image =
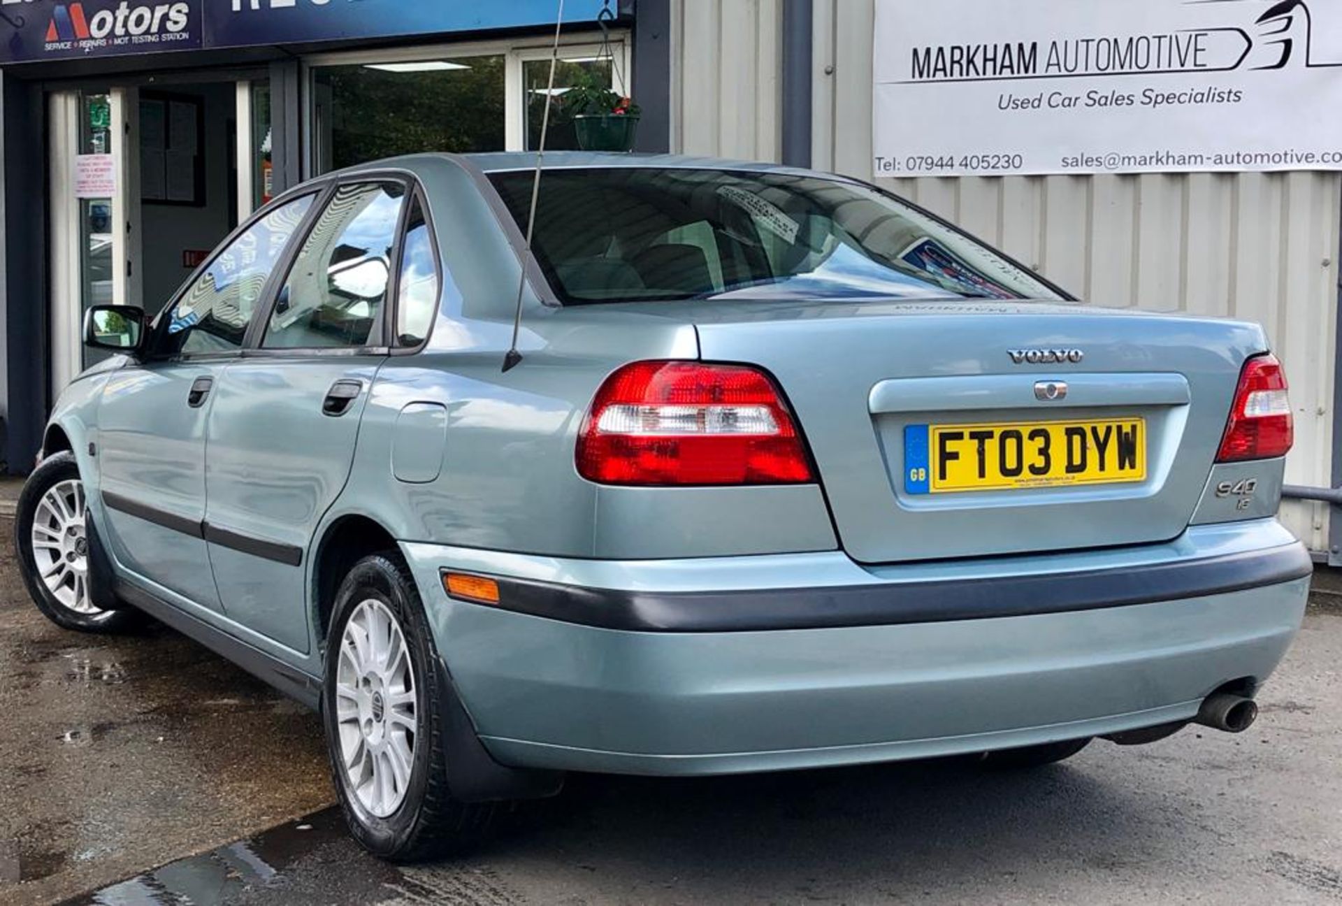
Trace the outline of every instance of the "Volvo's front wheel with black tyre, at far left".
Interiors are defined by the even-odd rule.
[[[64,630],[123,632],[140,623],[134,609],[93,603],[89,506],[79,464],[70,451],[42,460],[28,476],[15,513],[19,572],[38,609]]]

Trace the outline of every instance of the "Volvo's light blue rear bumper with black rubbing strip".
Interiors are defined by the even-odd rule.
[[[1275,668],[1299,628],[1310,569],[1303,549],[1272,521],[1190,529],[1143,549],[888,570],[863,569],[841,554],[616,564],[403,548],[439,650],[495,758],[647,774],[917,758],[1188,719],[1217,686],[1261,682]],[[1184,585],[1166,585],[1180,593],[1131,600],[1122,576],[1166,577],[1180,562],[1188,574],[1219,562],[1236,578],[1206,573],[1206,584],[1194,587],[1185,576]],[[1043,600],[1036,612],[1016,605],[1001,616],[966,609],[957,619],[887,613],[880,621],[868,613],[858,625],[647,631],[455,601],[442,591],[442,568],[518,578],[527,588],[568,584],[574,599],[609,593],[576,613],[596,600],[688,596],[696,607],[731,607],[754,600],[746,595],[778,593],[784,612],[801,600],[851,615],[844,600],[856,593],[840,589],[855,587],[863,595],[852,600],[863,607],[883,596],[895,601],[890,612],[902,613],[898,601],[909,589],[939,585],[954,597],[956,580],[977,589],[966,600],[980,608]],[[1067,605],[1068,580],[1080,589],[1102,574],[1115,589],[1110,603],[1078,592]],[[812,580],[809,596],[800,576]],[[1040,585],[1045,578],[1051,584]],[[1012,593],[994,595],[994,587]],[[503,584],[505,604],[511,588]],[[1021,588],[1031,595],[1013,592]]]

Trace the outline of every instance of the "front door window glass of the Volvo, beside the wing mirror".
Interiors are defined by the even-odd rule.
[[[243,345],[266,281],[313,205],[311,195],[275,208],[235,239],[164,321],[166,354],[231,352]]]

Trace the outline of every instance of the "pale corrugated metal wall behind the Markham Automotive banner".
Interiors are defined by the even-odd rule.
[[[676,4],[672,141],[684,153],[777,160],[780,5]],[[815,0],[813,165],[868,180],[874,15],[872,0]],[[879,181],[1090,303],[1263,323],[1296,408],[1287,481],[1331,485],[1342,174]],[[1326,506],[1288,502],[1282,515],[1326,549]]]

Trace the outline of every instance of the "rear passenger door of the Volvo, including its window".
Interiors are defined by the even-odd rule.
[[[224,611],[309,650],[306,557],[349,478],[368,391],[386,360],[386,299],[407,187],[340,185],[271,309],[215,388],[205,541]]]

